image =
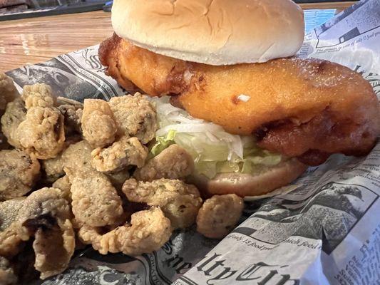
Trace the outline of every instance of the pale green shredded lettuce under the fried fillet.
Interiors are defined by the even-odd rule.
[[[209,178],[220,172],[254,173],[277,165],[282,156],[262,150],[252,136],[231,135],[220,125],[192,118],[171,105],[168,98],[152,98],[158,115],[158,131],[151,155],[176,143],[194,158],[195,171]]]

